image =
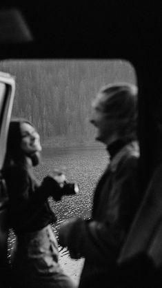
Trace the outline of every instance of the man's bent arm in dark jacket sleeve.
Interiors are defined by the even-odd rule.
[[[73,258],[97,258],[106,263],[117,259],[138,203],[138,192],[134,185],[137,181],[136,167],[136,159],[128,159],[115,178],[113,189],[119,198],[114,209],[114,217],[117,217],[114,223],[111,223],[110,216],[105,216],[103,221],[72,219],[63,224],[59,232],[59,243],[68,246]]]

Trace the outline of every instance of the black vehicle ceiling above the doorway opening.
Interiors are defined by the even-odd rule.
[[[107,0],[90,4],[82,0],[41,2],[38,5],[14,1],[13,5],[8,1],[0,8],[3,15],[6,12],[3,25],[1,21],[1,48],[6,48],[6,54],[14,57],[129,59],[134,58],[134,54],[135,57],[143,56],[145,50],[152,52],[154,45],[159,44],[156,35],[161,30],[160,2],[148,1],[145,5],[141,1]],[[11,19],[9,11],[15,12],[15,9],[23,19],[21,28],[26,25],[30,37],[24,41],[24,35],[20,39],[15,36],[14,43],[14,24],[10,25],[8,33],[5,27]],[[5,42],[6,34],[8,39]],[[4,51],[1,53],[5,56]]]

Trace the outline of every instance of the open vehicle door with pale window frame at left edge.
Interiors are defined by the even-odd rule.
[[[8,127],[14,100],[15,81],[10,74],[0,72],[0,287],[8,287],[8,261],[7,240],[8,228],[6,225],[6,212],[8,207],[8,194],[5,182],[1,176],[1,168],[6,154],[6,141]]]

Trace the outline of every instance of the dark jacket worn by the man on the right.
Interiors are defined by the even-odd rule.
[[[74,220],[70,226],[70,255],[85,258],[80,287],[98,287],[95,279],[105,273],[109,281],[114,273],[121,245],[139,205],[138,163],[138,143],[133,141],[122,147],[97,185],[92,218]]]

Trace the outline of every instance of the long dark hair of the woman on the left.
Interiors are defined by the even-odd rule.
[[[12,119],[10,121],[6,156],[3,167],[23,163],[24,154],[21,150],[21,123],[28,123],[33,127],[33,125],[26,119]]]

